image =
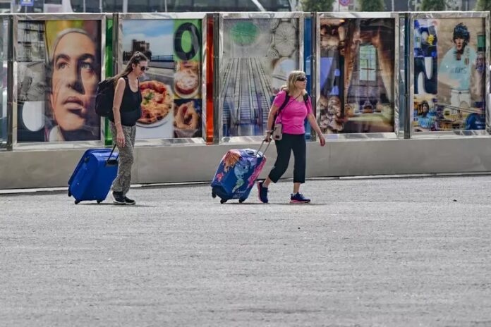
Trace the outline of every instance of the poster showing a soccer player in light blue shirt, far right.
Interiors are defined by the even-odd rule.
[[[485,21],[414,20],[415,132],[485,129]]]

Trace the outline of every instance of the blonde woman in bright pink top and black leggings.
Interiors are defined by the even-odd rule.
[[[274,98],[271,109],[269,109],[267,118],[269,130],[267,131],[266,142],[271,141],[274,124],[281,123],[283,125],[283,135],[281,140],[274,141],[278,155],[271,172],[266,180],[257,182],[259,199],[263,203],[268,202],[269,184],[271,182],[277,183],[288,168],[291,152],[295,158],[295,166],[293,168],[293,193],[290,197],[290,203],[310,202],[310,199],[300,193],[300,185],[305,183],[305,118],[317,132],[321,147],[324,147],[326,141],[313,115],[312,103],[305,91],[306,85],[305,73],[301,70],[293,70],[289,75],[288,85],[281,87],[281,91]]]

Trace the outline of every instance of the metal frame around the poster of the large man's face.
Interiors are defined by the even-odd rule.
[[[101,25],[101,44],[100,44],[100,63],[101,80],[105,78],[104,53],[106,44],[106,14],[105,13],[29,13],[13,15],[12,28],[12,47],[13,47],[13,85],[9,96],[12,97],[12,147],[13,149],[78,149],[94,146],[103,146],[104,140],[101,138],[96,141],[75,141],[75,142],[17,142],[17,120],[18,120],[18,23],[19,21],[46,21],[46,20],[100,20]],[[104,128],[104,121],[101,118],[101,128]]]

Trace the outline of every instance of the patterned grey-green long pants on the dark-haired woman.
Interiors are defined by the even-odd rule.
[[[110,123],[113,142],[116,142],[116,126]],[[131,166],[133,166],[133,148],[135,147],[136,126],[121,126],[124,134],[124,147],[119,147],[118,175],[113,182],[113,192],[123,192],[123,196],[130,190]]]

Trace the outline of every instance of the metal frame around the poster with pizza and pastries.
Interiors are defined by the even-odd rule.
[[[172,139],[145,139],[136,140],[135,146],[155,146],[155,145],[183,145],[183,144],[206,144],[206,39],[207,39],[207,13],[119,13],[114,14],[117,34],[114,37],[117,47],[114,47],[116,70],[115,74],[123,67],[123,21],[124,20],[175,20],[175,19],[200,19],[201,20],[201,106],[202,106],[202,137],[179,137]],[[117,51],[115,51],[117,49]]]

